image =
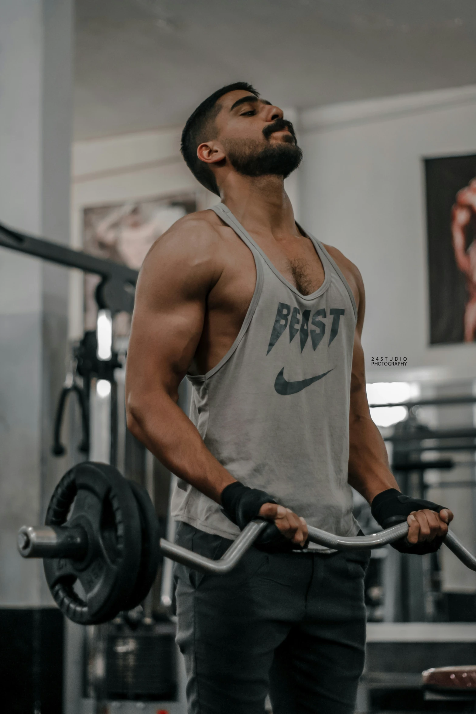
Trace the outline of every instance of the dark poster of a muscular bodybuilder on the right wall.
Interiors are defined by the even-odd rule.
[[[430,344],[476,340],[476,154],[425,159]]]

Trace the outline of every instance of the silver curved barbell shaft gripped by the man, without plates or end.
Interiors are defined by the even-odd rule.
[[[267,521],[258,519],[250,521],[248,526],[243,528],[238,538],[233,540],[230,548],[228,548],[226,553],[224,553],[219,560],[211,560],[211,558],[206,558],[204,555],[193,553],[191,550],[182,548],[181,545],[170,543],[170,541],[164,540],[163,538],[161,538],[161,550],[167,558],[176,560],[177,563],[188,565],[188,568],[202,570],[205,573],[215,573],[216,575],[229,573],[230,570],[233,570],[246,550],[250,548],[250,545],[253,545],[267,523]],[[368,548],[382,548],[383,545],[404,538],[408,533],[408,523],[398,523],[397,526],[387,528],[385,531],[380,531],[380,533],[358,535],[353,538],[343,535],[333,535],[333,533],[321,531],[320,528],[314,528],[313,526],[308,526],[308,533],[311,543],[325,545],[326,548],[333,550],[365,550]],[[447,532],[443,542],[467,568],[476,570],[475,556],[458,540],[452,531]]]

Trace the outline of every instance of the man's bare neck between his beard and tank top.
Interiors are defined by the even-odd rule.
[[[221,201],[250,233],[299,235],[282,176],[228,175]]]

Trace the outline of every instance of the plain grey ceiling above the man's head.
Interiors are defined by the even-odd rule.
[[[476,84],[476,3],[76,0],[75,139],[183,124],[238,80],[299,109]]]

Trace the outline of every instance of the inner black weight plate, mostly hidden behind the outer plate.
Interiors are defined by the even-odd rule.
[[[139,516],[141,517],[142,550],[136,584],[124,610],[136,608],[146,598],[153,581],[156,579],[158,562],[161,558],[156,509],[145,488],[133,481],[128,481],[128,484],[131,486],[131,491],[136,498]]]

